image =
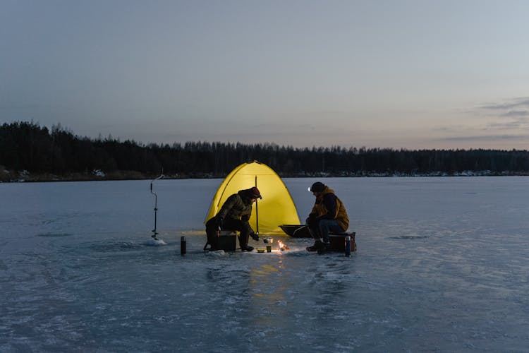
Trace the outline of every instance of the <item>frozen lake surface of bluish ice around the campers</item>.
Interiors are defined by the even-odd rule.
[[[0,184],[0,352],[528,352],[529,178],[320,181],[351,258],[204,253],[220,179],[154,182],[165,246],[150,181]]]

